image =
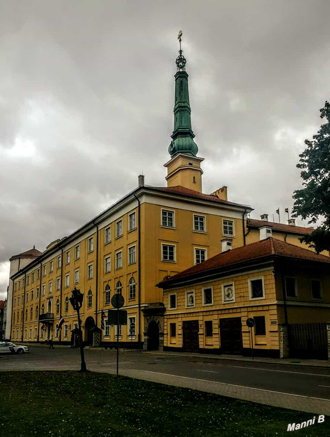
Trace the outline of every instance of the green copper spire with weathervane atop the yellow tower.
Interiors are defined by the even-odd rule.
[[[194,139],[195,135],[192,130],[192,122],[190,113],[192,112],[189,104],[189,89],[188,75],[186,73],[186,59],[182,54],[180,30],[178,40],[180,42],[179,56],[176,59],[177,72],[176,78],[176,93],[174,105],[174,130],[171,135],[172,141],[169,145],[168,152],[171,157],[178,153],[185,155],[196,156],[198,147]]]

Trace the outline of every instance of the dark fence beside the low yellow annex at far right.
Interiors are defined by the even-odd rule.
[[[289,323],[289,357],[327,359],[326,323]]]

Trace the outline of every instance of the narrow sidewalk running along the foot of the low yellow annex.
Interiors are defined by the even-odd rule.
[[[161,351],[143,351],[144,354],[163,355],[173,357],[188,357],[188,358],[207,358],[207,359],[227,359],[235,361],[249,361],[249,362],[266,362],[271,364],[286,364],[291,366],[310,366],[310,367],[324,367],[330,369],[330,361],[318,359],[301,359],[301,358],[260,358],[243,357],[241,355],[215,355],[215,354],[199,354],[190,352],[161,352]]]

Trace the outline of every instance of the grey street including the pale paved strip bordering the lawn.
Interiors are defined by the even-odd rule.
[[[84,352],[89,370],[115,373],[115,351]],[[0,371],[47,369],[79,370],[80,351],[32,346],[29,354],[0,355]],[[330,412],[330,369],[326,368],[128,351],[119,355],[119,373],[286,408]]]

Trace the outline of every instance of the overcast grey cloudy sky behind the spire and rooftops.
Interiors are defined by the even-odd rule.
[[[0,299],[12,254],[70,234],[142,171],[166,185],[180,29],[203,191],[287,219],[330,98],[328,0],[0,7]]]

